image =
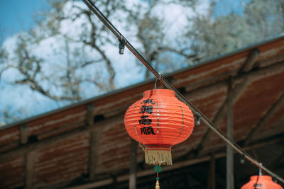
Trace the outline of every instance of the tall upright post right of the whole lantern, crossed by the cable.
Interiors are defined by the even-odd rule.
[[[228,82],[228,108],[227,108],[227,130],[230,139],[234,137],[232,79]],[[234,189],[234,150],[229,144],[226,145],[226,189]]]

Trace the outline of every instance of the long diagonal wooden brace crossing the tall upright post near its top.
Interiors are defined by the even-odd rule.
[[[246,62],[244,63],[244,71],[248,71],[248,69],[251,69],[253,67],[253,64],[256,62],[258,54],[256,53],[255,50],[253,50],[249,56],[246,59]],[[249,85],[251,78],[249,74],[244,74],[243,76],[243,81],[240,84],[236,84],[236,86],[234,87],[233,91],[232,91],[232,103],[234,105],[234,103],[236,103],[237,100],[239,100],[241,94],[246,90],[246,86]],[[217,112],[217,114],[214,117],[214,124],[218,125],[220,124],[220,122],[222,122],[224,115],[226,113],[227,110],[227,103],[228,103],[228,98],[226,98],[226,100],[224,101],[224,103],[222,104],[221,108],[219,108],[219,111]],[[209,128],[207,128],[204,136],[202,137],[202,139],[200,140],[200,144],[198,144],[198,147],[196,149],[197,154],[196,156],[200,156],[201,151],[204,149],[205,144],[209,141],[209,139],[212,137],[212,130],[210,130]]]

